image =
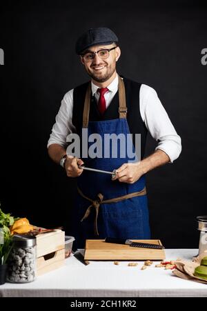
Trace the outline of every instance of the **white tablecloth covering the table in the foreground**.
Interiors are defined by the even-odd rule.
[[[166,250],[166,259],[191,260],[198,250]],[[207,285],[179,279],[171,270],[143,262],[129,267],[128,261],[90,261],[83,265],[75,257],[62,268],[43,274],[31,283],[0,285],[0,297],[207,297]]]

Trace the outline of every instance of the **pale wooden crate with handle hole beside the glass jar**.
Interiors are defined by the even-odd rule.
[[[55,270],[65,260],[65,232],[55,230],[37,235],[37,276]]]

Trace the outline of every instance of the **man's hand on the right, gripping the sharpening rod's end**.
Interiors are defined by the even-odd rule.
[[[135,183],[144,174],[141,162],[124,163],[116,171],[117,174],[112,180],[118,179],[121,183]]]

